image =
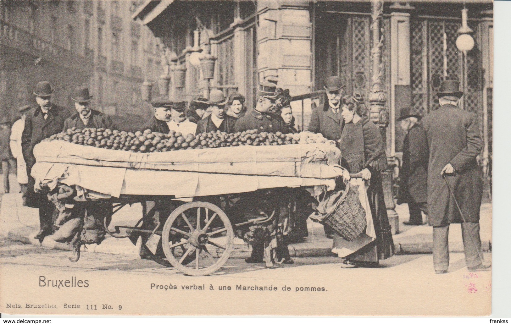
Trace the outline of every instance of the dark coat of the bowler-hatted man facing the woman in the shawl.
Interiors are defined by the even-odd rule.
[[[339,115],[337,115],[328,104],[328,100],[323,99],[322,104],[312,110],[311,122],[307,130],[313,133],[321,133],[328,140],[338,141],[341,138],[344,126],[341,107],[339,107]]]

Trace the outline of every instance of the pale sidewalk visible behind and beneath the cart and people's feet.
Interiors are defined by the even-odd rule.
[[[11,193],[2,196],[0,205],[0,237],[7,237],[12,240],[26,244],[39,245],[34,236],[39,232],[39,214],[37,209],[22,205],[21,194],[14,175],[11,175]],[[0,178],[0,182],[2,182]],[[432,227],[407,226],[403,221],[409,219],[408,206],[398,205],[396,211],[399,215],[400,233],[393,236],[396,253],[431,253],[432,250]],[[142,206],[140,203],[132,206],[125,206],[112,217],[112,225],[133,226],[142,217]],[[492,205],[483,203],[481,206],[481,241],[484,251],[491,251],[492,242]],[[323,226],[308,220],[309,236],[304,242],[289,245],[289,252],[292,257],[319,257],[333,256],[331,253],[332,240],[324,236]],[[463,243],[461,240],[461,227],[453,224],[449,231],[449,250],[451,252],[462,252]],[[116,239],[107,237],[100,245],[87,245],[87,252],[102,252],[114,254],[137,255],[140,248],[140,240],[137,246],[129,239]],[[42,246],[70,250],[64,243],[58,243],[44,239]],[[235,248],[231,258],[246,258],[250,255],[250,248],[243,240],[235,238]]]

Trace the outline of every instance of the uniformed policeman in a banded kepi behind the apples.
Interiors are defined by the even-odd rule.
[[[259,84],[255,108],[240,118],[234,127],[234,132],[257,129],[259,132],[283,132],[284,121],[279,114],[275,114],[278,98],[277,86],[274,83],[262,82]]]

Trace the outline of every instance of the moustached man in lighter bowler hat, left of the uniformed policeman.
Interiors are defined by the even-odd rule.
[[[196,133],[211,132],[220,130],[226,133],[232,133],[237,119],[227,115],[225,105],[228,99],[225,98],[221,90],[211,90],[210,100],[207,101],[211,108],[211,115],[197,122]]]

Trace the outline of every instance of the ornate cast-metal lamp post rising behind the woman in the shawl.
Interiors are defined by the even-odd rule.
[[[371,90],[369,92],[369,118],[380,127],[383,137],[383,143],[386,141],[387,126],[389,124],[389,113],[386,108],[387,94],[382,84],[383,66],[381,61],[382,47],[384,39],[383,33],[380,31],[380,21],[383,16],[383,0],[371,0],[371,30],[373,31],[373,43],[371,47]],[[387,148],[388,151],[388,148]],[[394,203],[392,180],[394,167],[394,159],[387,158],[389,166],[385,172],[382,172],[383,194],[385,198],[385,206],[387,207],[387,215],[392,227],[392,234],[399,233],[399,216],[396,213],[396,203]]]

